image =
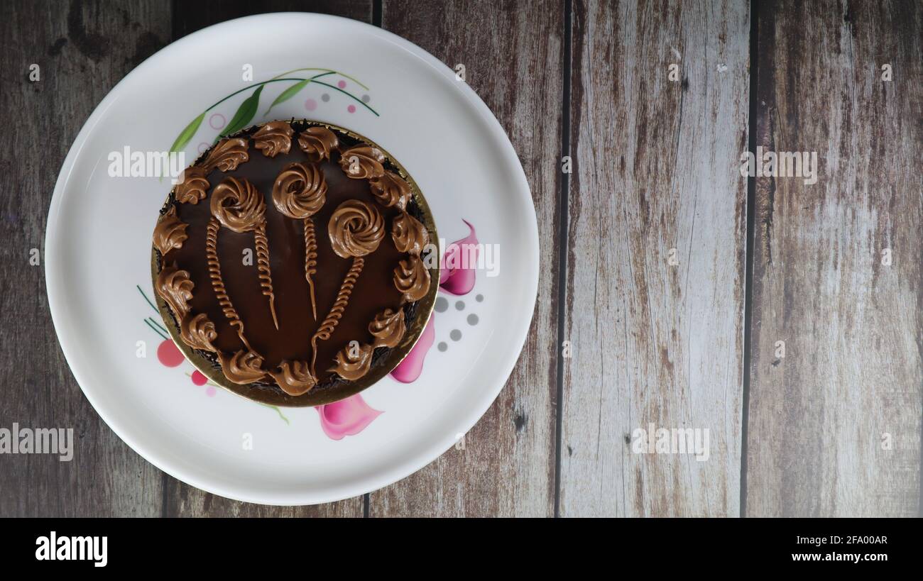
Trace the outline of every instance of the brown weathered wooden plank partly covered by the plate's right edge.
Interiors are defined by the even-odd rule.
[[[370,496],[371,516],[550,516],[557,376],[557,191],[563,6],[386,0],[382,27],[466,80],[497,116],[532,188],[542,264],[520,361],[494,405],[430,466]]]

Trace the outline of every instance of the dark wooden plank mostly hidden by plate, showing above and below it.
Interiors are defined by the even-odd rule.
[[[210,3],[174,3],[174,40],[224,20],[266,12],[321,12],[370,22],[371,0],[249,0],[222,2],[221,10]],[[362,496],[339,503],[316,506],[264,506],[232,501],[201,491],[179,480],[164,476],[164,514],[168,516],[363,516]]]

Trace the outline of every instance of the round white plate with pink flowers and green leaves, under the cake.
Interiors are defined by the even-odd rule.
[[[159,328],[150,232],[170,182],[134,155],[176,148],[182,168],[238,124],[290,117],[387,148],[426,192],[446,241],[436,312],[408,358],[362,394],[314,409],[216,389]],[[174,478],[262,504],[370,492],[463,437],[522,348],[538,260],[525,175],[473,90],[387,31],[299,13],[200,30],[125,77],[68,152],[45,235],[54,326],[102,419]]]

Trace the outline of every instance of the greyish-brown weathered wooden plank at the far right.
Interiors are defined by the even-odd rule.
[[[921,19],[761,3],[757,144],[817,151],[820,171],[757,180],[748,516],[918,514]]]

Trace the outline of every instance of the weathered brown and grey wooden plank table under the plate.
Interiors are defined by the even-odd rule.
[[[920,515],[923,5],[257,4],[0,3],[0,426],[78,437],[72,462],[0,456],[0,516]],[[520,155],[545,265],[519,364],[463,450],[289,508],[201,492],[123,444],[67,369],[29,260],[67,148],[120,78],[280,10],[465,65]],[[742,177],[757,146],[816,151],[818,182]],[[633,453],[651,423],[709,429],[709,459]]]

